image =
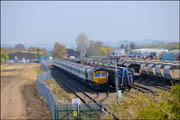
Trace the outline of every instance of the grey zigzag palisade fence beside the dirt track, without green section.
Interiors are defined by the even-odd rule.
[[[56,100],[53,94],[51,93],[51,90],[44,84],[45,80],[51,79],[51,71],[47,67],[47,62],[46,63],[42,62],[41,68],[46,72],[37,76],[37,90],[40,93],[40,95],[46,100],[54,118],[54,115],[56,113],[55,112]]]

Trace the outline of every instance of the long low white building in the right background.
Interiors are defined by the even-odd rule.
[[[149,57],[159,56],[162,53],[167,53],[168,49],[155,49],[155,48],[144,48],[131,50],[130,56],[133,57]]]

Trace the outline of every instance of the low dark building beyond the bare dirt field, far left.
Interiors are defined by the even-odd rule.
[[[30,62],[36,59],[35,53],[26,53],[26,52],[16,52],[9,53],[9,60],[13,60],[14,62]]]

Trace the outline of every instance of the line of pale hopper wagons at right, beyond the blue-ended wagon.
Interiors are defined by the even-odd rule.
[[[112,60],[81,60],[85,64],[101,64],[113,65],[115,61]],[[169,61],[134,61],[126,60],[117,62],[118,66],[127,67],[134,72],[135,79],[138,77],[155,78],[160,80],[180,81],[180,65],[179,62]]]

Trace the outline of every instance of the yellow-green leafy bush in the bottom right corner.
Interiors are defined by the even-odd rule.
[[[139,101],[146,105],[138,110],[136,118],[180,119],[180,85],[174,86],[169,93],[160,93],[158,100],[142,98],[144,97],[139,97]]]

